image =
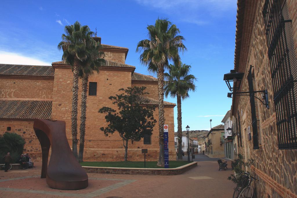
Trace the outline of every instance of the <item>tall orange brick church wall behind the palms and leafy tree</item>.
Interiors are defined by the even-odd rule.
[[[116,108],[110,100],[109,96],[118,94],[120,88],[131,86],[131,72],[126,71],[100,71],[99,75],[89,78],[89,82],[97,82],[97,96],[87,96],[87,112],[86,112],[86,136],[84,161],[121,161],[124,159],[123,141],[119,134],[115,132],[108,137],[99,129],[107,126],[104,114],[99,114],[98,110],[103,106]],[[81,85],[81,81],[79,81]],[[66,135],[69,145],[72,146],[71,136],[71,101],[72,101],[72,72],[71,69],[55,69],[55,80],[53,88],[53,108],[52,120],[64,120],[66,122]],[[81,88],[79,89],[81,90]],[[79,91],[79,98],[80,98]],[[78,107],[80,107],[80,99]],[[155,111],[155,119],[158,118],[158,108]],[[80,108],[78,109],[80,115]],[[78,126],[80,124],[78,118]],[[169,124],[169,142],[170,159],[175,160],[174,152],[174,118],[173,107],[165,107],[165,123]],[[78,136],[79,138],[79,136]],[[139,142],[130,142],[128,145],[128,160],[141,161],[143,154],[142,148],[148,148],[147,160],[156,160],[159,152],[159,132],[158,126],[154,127],[151,137],[151,144],[143,144],[143,140]]]

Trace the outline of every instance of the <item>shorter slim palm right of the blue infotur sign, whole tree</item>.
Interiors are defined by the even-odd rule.
[[[181,153],[181,140],[182,140],[182,130],[181,130],[181,99],[186,99],[189,97],[189,91],[195,91],[196,86],[194,81],[195,76],[189,74],[191,69],[190,65],[186,64],[175,64],[169,65],[169,73],[165,73],[165,96],[177,98],[177,136],[178,136],[178,161],[183,161],[183,156]]]

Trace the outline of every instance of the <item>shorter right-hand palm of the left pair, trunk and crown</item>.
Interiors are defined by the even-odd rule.
[[[82,79],[81,84],[81,115],[80,115],[80,138],[79,138],[79,151],[78,161],[83,161],[83,149],[85,143],[86,133],[86,110],[87,110],[87,91],[89,77],[94,74],[94,71],[99,73],[100,66],[104,63],[104,59],[101,58],[104,52],[100,52],[100,43],[97,42],[93,47],[90,48],[90,56],[80,66],[79,76]]]

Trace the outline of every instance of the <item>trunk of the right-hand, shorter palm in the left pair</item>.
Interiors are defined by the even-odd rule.
[[[81,115],[80,115],[80,137],[79,137],[79,151],[78,161],[83,161],[83,148],[85,144],[86,133],[86,110],[87,110],[87,91],[88,91],[89,76],[84,75],[81,84]]]

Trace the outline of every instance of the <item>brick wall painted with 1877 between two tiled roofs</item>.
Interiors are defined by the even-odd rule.
[[[0,98],[51,99],[53,80],[0,78]]]

